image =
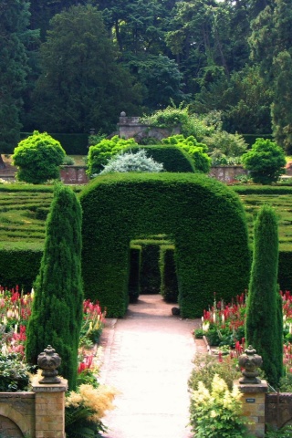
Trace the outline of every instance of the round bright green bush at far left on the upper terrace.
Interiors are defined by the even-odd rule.
[[[16,178],[33,184],[59,179],[59,166],[65,155],[57,140],[47,132],[39,133],[35,130],[33,135],[20,141],[14,151],[12,158],[18,168]]]

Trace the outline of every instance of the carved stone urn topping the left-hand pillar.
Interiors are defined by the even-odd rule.
[[[42,353],[37,356],[37,365],[43,370],[42,376],[39,383],[44,384],[56,384],[60,383],[60,379],[57,377],[57,367],[61,363],[61,358],[56,353],[56,349],[53,349],[50,345],[47,346]]]

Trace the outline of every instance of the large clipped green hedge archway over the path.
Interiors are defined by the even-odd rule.
[[[115,173],[80,193],[85,296],[109,317],[128,307],[130,242],[167,235],[175,245],[183,318],[201,317],[214,293],[229,301],[248,285],[245,212],[223,183],[192,173]]]

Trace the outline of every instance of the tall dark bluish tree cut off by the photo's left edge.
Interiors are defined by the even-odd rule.
[[[21,93],[26,86],[26,32],[29,2],[0,4],[0,152],[12,152],[19,141]],[[4,166],[2,159],[0,166]]]

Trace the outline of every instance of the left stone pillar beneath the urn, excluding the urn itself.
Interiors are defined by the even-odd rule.
[[[65,391],[68,381],[34,383],[36,393],[36,438],[65,438]]]

